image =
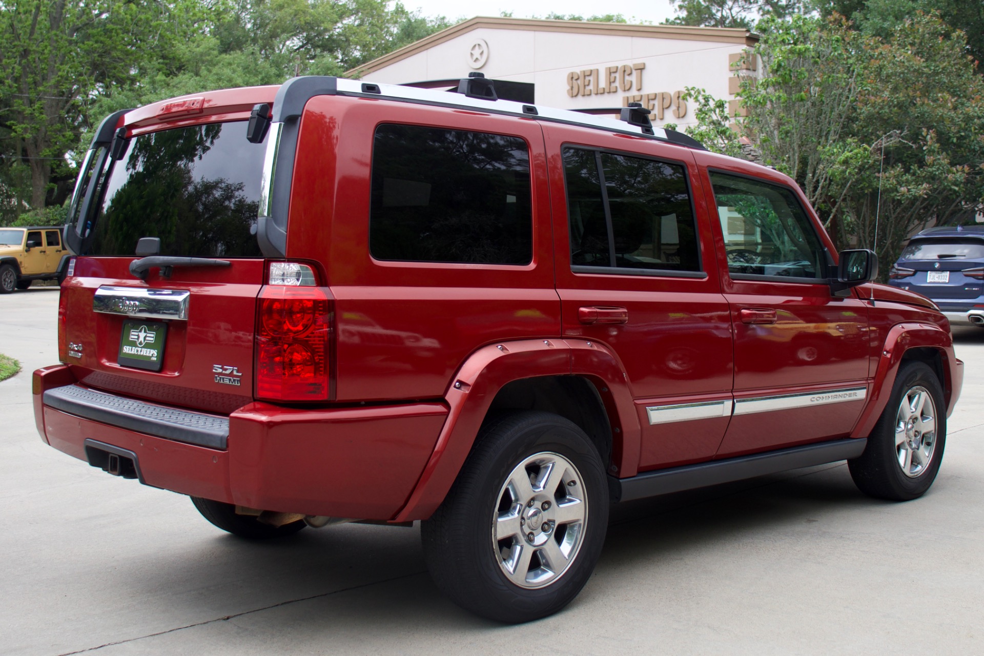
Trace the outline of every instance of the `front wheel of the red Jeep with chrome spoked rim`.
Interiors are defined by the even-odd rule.
[[[936,373],[922,362],[903,363],[868,446],[847,461],[861,492],[891,501],[925,494],[943,460],[946,408]]]

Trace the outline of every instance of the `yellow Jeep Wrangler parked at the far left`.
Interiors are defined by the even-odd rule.
[[[57,227],[0,228],[0,294],[58,279],[68,255]]]

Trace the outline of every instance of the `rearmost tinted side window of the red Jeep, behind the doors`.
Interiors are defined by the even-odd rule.
[[[369,250],[377,260],[527,265],[529,150],[517,137],[381,125]]]

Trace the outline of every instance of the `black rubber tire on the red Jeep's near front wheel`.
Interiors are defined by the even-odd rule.
[[[903,397],[917,393],[919,389],[925,389],[933,402],[933,414],[935,417],[933,447],[928,462],[923,463],[921,469],[914,475],[906,475],[903,471],[902,463],[899,461],[899,450],[896,447],[895,435],[897,430],[903,431],[900,435],[906,436],[906,444],[911,444],[908,440],[915,435],[913,430],[916,427],[909,427],[905,422],[900,422],[899,413],[902,412],[901,404]],[[926,410],[919,412],[920,418]],[[928,415],[927,415],[928,416]],[[922,428],[920,424],[918,428]],[[926,431],[928,434],[929,431]],[[925,435],[916,435],[913,439],[919,439],[917,444],[921,449],[918,453],[925,450]],[[947,446],[947,405],[943,397],[943,388],[936,373],[926,364],[914,360],[903,362],[898,369],[895,383],[892,386],[892,396],[889,403],[885,406],[882,416],[879,417],[875,429],[868,437],[868,445],[864,452],[853,460],[847,461],[847,467],[851,472],[854,484],[861,492],[876,499],[887,499],[890,501],[910,501],[923,496],[933,481],[936,479],[937,472],[940,471],[940,464],[943,461],[943,451]],[[902,446],[902,450],[908,447]],[[904,457],[904,454],[903,456]],[[911,470],[913,465],[909,465]]]

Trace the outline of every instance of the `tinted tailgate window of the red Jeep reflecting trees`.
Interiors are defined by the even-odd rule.
[[[89,255],[132,256],[141,237],[159,237],[160,255],[261,257],[252,230],[265,150],[243,122],[131,139],[102,174]]]

